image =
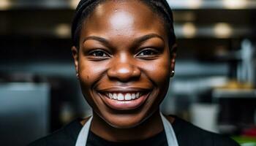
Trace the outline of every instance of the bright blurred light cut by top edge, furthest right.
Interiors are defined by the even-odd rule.
[[[223,0],[223,4],[227,9],[241,9],[247,5],[246,0]]]

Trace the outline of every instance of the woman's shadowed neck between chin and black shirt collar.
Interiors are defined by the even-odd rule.
[[[130,142],[153,137],[163,131],[163,126],[159,110],[154,112],[151,117],[139,126],[133,128],[115,128],[94,113],[91,122],[91,131],[97,134],[97,136],[111,142]]]

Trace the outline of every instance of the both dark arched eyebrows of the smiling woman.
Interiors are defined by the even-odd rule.
[[[154,37],[157,37],[159,39],[161,39],[163,42],[165,39],[163,39],[161,36],[159,36],[158,34],[146,34],[142,37],[138,37],[135,39],[134,41],[134,44],[138,44],[138,43],[142,43],[142,42],[145,42],[146,40],[148,39],[152,39]],[[89,39],[93,39],[93,40],[97,40],[99,42],[102,42],[103,44],[106,44],[106,45],[110,45],[108,39],[105,39],[103,37],[97,37],[97,36],[89,36],[89,37],[86,37],[85,39],[83,39],[83,43],[86,42],[87,40]]]

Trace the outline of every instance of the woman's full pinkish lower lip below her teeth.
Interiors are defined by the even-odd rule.
[[[138,107],[140,107],[148,98],[149,93],[140,96],[140,98],[130,101],[118,101],[109,99],[107,96],[102,95],[102,99],[105,102],[105,104],[108,105],[108,107],[114,109],[114,110],[135,110]]]

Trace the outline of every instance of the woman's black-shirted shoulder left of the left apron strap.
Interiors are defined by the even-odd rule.
[[[80,124],[80,120],[74,120],[67,126],[53,132],[53,134],[47,137],[42,137],[41,139],[32,142],[29,146],[65,146],[65,145],[75,145],[76,139],[78,137],[79,131],[83,126]]]

